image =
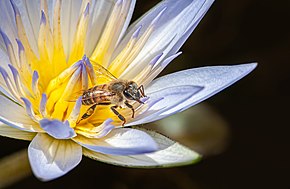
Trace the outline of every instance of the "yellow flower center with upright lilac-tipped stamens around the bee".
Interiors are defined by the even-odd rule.
[[[100,64],[108,67],[116,77],[129,66],[130,62],[137,56],[137,52],[142,48],[148,39],[152,28],[136,43],[137,35],[141,28],[132,36],[132,39],[125,46],[124,50],[112,61],[113,48],[110,45],[116,42],[118,36],[114,32],[120,31],[124,21],[119,21],[121,7],[116,4],[113,7],[108,23],[103,31],[95,50],[89,58],[85,53],[85,41],[89,21],[89,7],[87,3],[83,6],[83,12],[79,17],[75,37],[68,54],[65,53],[62,43],[62,33],[60,24],[60,1],[56,1],[53,18],[47,17],[47,4],[42,1],[43,10],[41,11],[41,23],[39,36],[37,39],[38,52],[34,52],[30,46],[29,40],[21,20],[17,7],[14,5],[16,25],[18,29],[17,39],[18,58],[16,58],[15,49],[5,35],[2,34],[4,41],[6,39],[7,52],[11,61],[10,69],[13,73],[16,88],[11,88],[13,96],[18,101],[24,101],[26,109],[30,109],[30,116],[39,121],[43,118],[68,121],[70,127],[74,128],[76,133],[86,137],[96,137],[100,132],[101,126],[108,118],[113,119],[114,125],[121,125],[122,121],[110,110],[110,106],[97,106],[94,114],[87,119],[81,119],[89,106],[76,103],[82,96],[82,92],[95,85],[108,82],[105,77],[101,78],[101,73],[94,70],[94,65]],[[52,27],[50,20],[52,19]],[[133,51],[132,48],[135,48]],[[109,62],[111,61],[111,62]],[[141,81],[141,76],[150,71],[149,67],[144,69],[135,79]],[[5,75],[5,74],[4,74]],[[98,79],[97,79],[98,78]],[[9,88],[9,83],[7,85]],[[139,103],[134,103],[138,114]],[[132,119],[131,109],[118,110],[126,121]],[[29,111],[28,111],[29,112]],[[100,127],[98,127],[100,126]]]

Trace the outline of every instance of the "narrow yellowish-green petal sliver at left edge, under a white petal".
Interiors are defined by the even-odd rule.
[[[21,131],[19,129],[15,129],[13,127],[0,123],[0,135],[20,140],[31,141],[35,137],[36,133]]]

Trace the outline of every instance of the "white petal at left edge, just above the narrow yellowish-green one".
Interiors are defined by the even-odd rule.
[[[0,95],[0,121],[16,129],[43,132],[38,123],[32,121],[25,109]],[[3,108],[5,107],[5,108]]]

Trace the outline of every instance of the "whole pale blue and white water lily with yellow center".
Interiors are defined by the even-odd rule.
[[[200,155],[132,127],[181,112],[233,84],[256,64],[189,69],[155,79],[177,56],[214,0],[163,0],[129,27],[135,0],[0,1],[0,135],[31,141],[41,180],[58,178],[82,155],[128,167],[169,167]],[[119,108],[127,123],[78,91],[106,83],[96,69],[145,87],[144,104]]]

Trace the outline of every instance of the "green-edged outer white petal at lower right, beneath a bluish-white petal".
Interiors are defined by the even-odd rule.
[[[201,158],[196,152],[161,134],[154,131],[146,131],[145,129],[142,130],[154,138],[160,150],[153,153],[131,156],[106,155],[90,150],[84,150],[83,153],[85,156],[105,163],[140,168],[181,166],[195,163]]]

